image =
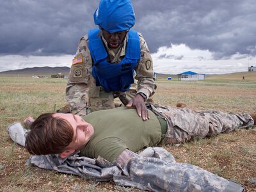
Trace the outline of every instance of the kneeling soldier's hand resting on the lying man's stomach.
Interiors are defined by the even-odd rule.
[[[136,95],[133,99],[129,100],[126,107],[127,108],[135,107],[137,109],[138,115],[144,121],[146,121],[150,118],[149,114],[148,114],[148,109],[147,109],[144,99],[143,99],[143,97],[141,97],[141,95]]]

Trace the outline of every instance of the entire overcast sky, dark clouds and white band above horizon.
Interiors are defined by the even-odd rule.
[[[154,70],[178,74],[247,71],[256,66],[255,0],[133,0]],[[0,6],[0,72],[70,67],[99,0],[8,0]]]

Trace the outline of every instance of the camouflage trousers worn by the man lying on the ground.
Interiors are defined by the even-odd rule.
[[[147,104],[147,107],[167,121],[165,144],[182,143],[237,128],[253,127],[254,123],[248,113],[223,113],[215,110],[195,112],[189,108],[170,108],[156,104]]]

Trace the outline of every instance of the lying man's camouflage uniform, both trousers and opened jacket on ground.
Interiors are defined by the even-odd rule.
[[[166,143],[180,143],[193,138],[204,138],[220,132],[233,131],[240,127],[252,127],[252,116],[248,113],[223,113],[207,110],[195,112],[188,108],[169,108],[147,104],[157,116],[168,122]],[[26,131],[19,124],[19,132],[25,137]],[[14,140],[15,141],[15,140]],[[21,143],[22,144],[22,143]],[[121,186],[131,186],[148,191],[243,191],[243,186],[207,172],[198,166],[177,163],[163,148],[147,148],[140,156],[129,159],[124,166],[115,161],[109,163],[102,157],[90,159],[73,156],[61,159],[58,155],[31,156],[27,164],[56,170],[61,173],[79,175],[86,179],[114,180]]]

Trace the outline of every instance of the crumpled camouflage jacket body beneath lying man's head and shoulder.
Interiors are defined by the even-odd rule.
[[[84,179],[98,181],[113,180],[113,173],[119,172],[117,167],[101,157],[90,159],[88,157],[79,157],[77,153],[65,159],[59,157],[58,154],[30,156],[26,165],[32,164],[46,170],[55,170],[60,173],[78,175]]]

